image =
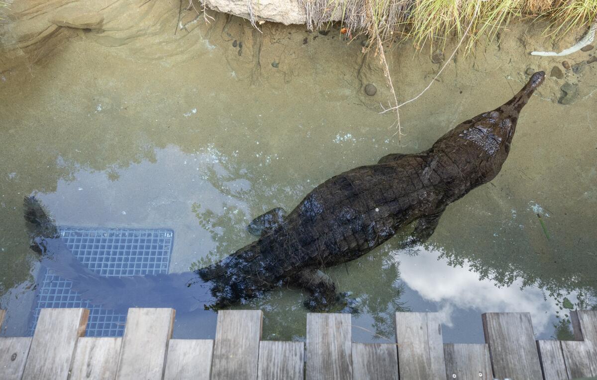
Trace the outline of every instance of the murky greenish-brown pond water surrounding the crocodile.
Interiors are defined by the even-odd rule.
[[[26,332],[35,302],[39,264],[24,229],[26,195],[37,195],[59,225],[171,228],[171,272],[180,272],[250,242],[244,227],[253,217],[291,210],[328,177],[389,152],[426,149],[509,99],[528,66],[549,73],[561,62],[528,56],[515,38],[524,27],[514,27],[501,45],[459,57],[403,108],[406,136],[398,141],[388,128],[394,116],[378,114],[388,94],[378,58],[363,60],[360,41],[268,25],[260,36],[234,23],[241,21],[198,26],[184,37],[190,48],[161,46],[155,56],[143,36],[112,46],[81,33],[44,60],[0,74],[6,334]],[[244,39],[241,54],[235,39]],[[408,44],[392,48],[389,60],[401,99],[439,69]],[[558,322],[558,314],[567,320],[565,298],[595,307],[596,74],[597,63],[547,79],[522,113],[500,175],[450,205],[417,254],[395,248],[395,238],[327,270],[340,291],[359,298],[355,340],[393,339],[396,310],[439,311],[445,341],[475,342],[482,312],[530,312],[537,336],[550,337],[566,324]],[[365,96],[359,79],[376,83],[377,95]],[[565,82],[579,86],[571,105],[557,102]],[[276,289],[247,307],[264,310],[264,337],[301,339],[303,300]],[[213,337],[215,318],[198,329],[192,314],[181,315],[174,335]]]

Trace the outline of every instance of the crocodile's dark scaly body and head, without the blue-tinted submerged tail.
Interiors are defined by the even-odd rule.
[[[197,271],[214,283],[216,306],[256,297],[282,281],[310,288],[319,298],[310,306],[325,306],[335,289],[317,269],[354,260],[415,220],[407,243],[429,238],[448,204],[500,172],[519,113],[544,76],[533,74],[506,104],[458,124],[427,151],[388,155],[317,186],[280,225]]]

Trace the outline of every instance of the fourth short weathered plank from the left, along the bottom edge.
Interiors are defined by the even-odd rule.
[[[304,343],[261,341],[259,343],[259,380],[303,380]]]

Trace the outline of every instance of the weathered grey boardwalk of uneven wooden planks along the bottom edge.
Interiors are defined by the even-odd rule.
[[[436,313],[396,313],[396,344],[352,342],[350,314],[307,314],[303,342],[261,341],[259,310],[220,311],[216,339],[171,339],[173,309],[130,309],[122,338],[86,338],[85,309],[44,309],[0,338],[0,379],[530,379],[597,376],[597,312],[576,341],[535,341],[528,313],[482,315],[487,344],[444,344]],[[0,310],[0,323],[4,312]]]

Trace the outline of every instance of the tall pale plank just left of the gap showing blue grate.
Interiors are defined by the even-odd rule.
[[[87,309],[42,309],[23,379],[66,379],[88,316]]]

